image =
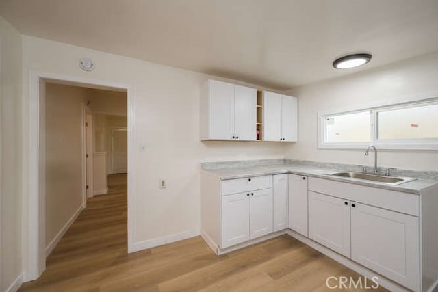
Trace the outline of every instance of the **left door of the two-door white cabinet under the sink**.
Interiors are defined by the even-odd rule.
[[[350,202],[309,191],[309,237],[350,257]]]

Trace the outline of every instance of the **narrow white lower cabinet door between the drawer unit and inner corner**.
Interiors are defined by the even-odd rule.
[[[274,232],[287,228],[287,174],[273,176]]]

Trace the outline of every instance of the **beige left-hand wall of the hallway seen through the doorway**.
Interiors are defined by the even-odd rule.
[[[86,88],[46,83],[46,247],[82,206]]]

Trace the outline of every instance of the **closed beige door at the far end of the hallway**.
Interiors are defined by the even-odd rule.
[[[126,129],[112,130],[113,173],[128,172],[128,135]]]

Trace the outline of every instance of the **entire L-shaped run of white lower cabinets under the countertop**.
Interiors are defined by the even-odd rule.
[[[438,241],[433,236],[438,187],[418,196],[324,178],[287,177],[222,181],[201,174],[201,234],[211,249],[222,254],[233,245],[283,230],[288,219],[296,233],[376,274],[406,289],[432,291],[438,277]]]

